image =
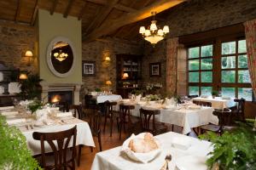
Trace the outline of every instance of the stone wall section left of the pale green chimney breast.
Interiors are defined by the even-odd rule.
[[[22,57],[26,50],[34,50],[35,28],[0,21],[0,32],[0,61],[10,69],[38,72],[37,58],[31,59],[29,63],[29,58]]]

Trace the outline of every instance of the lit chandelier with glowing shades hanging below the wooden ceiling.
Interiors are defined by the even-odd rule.
[[[151,14],[154,19],[156,12],[151,12]],[[164,26],[163,29],[159,29],[156,26],[156,20],[151,21],[151,25],[148,26],[148,29],[146,29],[145,26],[141,26],[139,30],[139,33],[143,35],[143,38],[153,45],[163,40],[168,32],[169,26]]]

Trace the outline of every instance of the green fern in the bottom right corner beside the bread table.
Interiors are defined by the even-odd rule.
[[[224,132],[222,136],[212,132],[200,136],[201,139],[212,142],[213,150],[207,159],[209,169],[255,169],[256,131],[247,124],[239,125],[234,131]]]

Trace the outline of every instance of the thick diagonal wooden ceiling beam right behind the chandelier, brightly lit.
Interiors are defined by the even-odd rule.
[[[148,5],[147,7],[137,10],[137,12],[128,13],[116,20],[109,20],[108,22],[103,23],[102,26],[99,26],[95,30],[91,31],[90,34],[86,37],[83,35],[83,39],[85,42],[93,41],[98,37],[108,35],[109,32],[115,31],[121,26],[125,26],[150,17],[152,11],[160,13],[185,1],[187,0],[158,0],[155,3]]]

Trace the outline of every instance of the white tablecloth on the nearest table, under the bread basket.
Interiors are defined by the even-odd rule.
[[[188,150],[180,150],[172,147],[172,139],[177,137],[191,139],[191,146]],[[156,136],[155,138],[159,139],[162,146],[162,151],[160,156],[157,156],[153,161],[145,164],[131,161],[131,159],[129,159],[123,153],[120,153],[121,147],[116,147],[111,150],[105,150],[97,153],[94,158],[91,170],[159,170],[160,167],[164,164],[167,154],[172,155],[172,161],[169,163],[169,169],[174,170],[176,167],[175,160],[177,160],[177,158],[190,155],[195,156],[198,159],[202,158],[205,160],[207,154],[212,151],[211,143],[178,133],[163,133]],[[184,170],[198,170],[196,168],[197,166],[198,165],[194,164],[191,165],[191,168]],[[207,168],[205,170],[207,170]]]

